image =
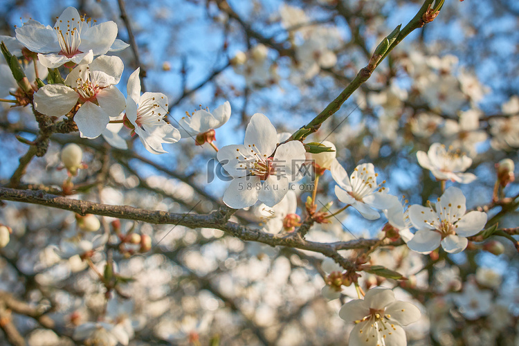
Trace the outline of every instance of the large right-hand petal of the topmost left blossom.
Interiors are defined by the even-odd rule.
[[[117,37],[117,24],[113,21],[105,21],[91,26],[86,32],[81,33],[80,49],[91,49],[93,55],[106,54]]]

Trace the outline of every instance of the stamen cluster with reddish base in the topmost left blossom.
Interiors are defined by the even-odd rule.
[[[66,21],[66,26],[61,20],[56,22],[54,30],[57,35],[57,42],[60,44],[60,48],[62,48],[60,55],[71,58],[76,54],[83,53],[79,48],[81,44],[81,30],[84,24],[87,27],[90,26],[90,19],[85,20],[84,17],[71,18],[71,20]]]

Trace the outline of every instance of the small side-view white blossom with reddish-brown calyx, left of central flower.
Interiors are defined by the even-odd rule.
[[[206,109],[200,109],[179,121],[180,134],[182,137],[192,136],[196,139],[197,145],[211,143],[215,140],[215,129],[224,125],[230,118],[230,103],[226,101],[217,107],[212,113]]]

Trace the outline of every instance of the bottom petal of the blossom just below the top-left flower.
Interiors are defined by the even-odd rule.
[[[97,104],[86,101],[74,116],[74,122],[78,125],[83,138],[96,138],[110,121],[108,114]]]

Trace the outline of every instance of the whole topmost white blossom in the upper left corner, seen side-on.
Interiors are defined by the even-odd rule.
[[[116,39],[116,23],[107,21],[94,25],[73,7],[63,11],[54,28],[30,19],[15,31],[19,42],[38,53],[39,62],[49,69],[67,62],[90,64],[96,55],[122,51],[129,46]]]

